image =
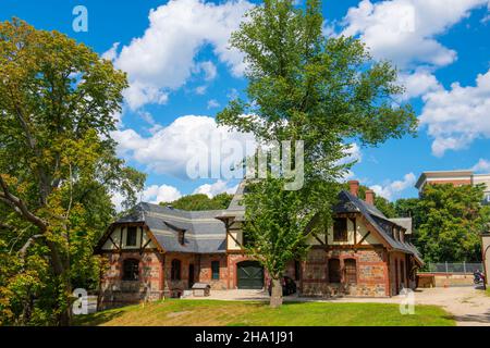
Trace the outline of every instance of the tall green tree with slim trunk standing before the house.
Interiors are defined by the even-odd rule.
[[[305,257],[309,235],[326,231],[331,223],[336,182],[350,167],[350,163],[339,164],[348,141],[377,145],[415,134],[417,126],[412,108],[396,105],[391,98],[403,91],[396,84],[396,71],[388,62],[372,61],[359,40],[326,38],[322,25],[319,0],[308,0],[304,9],[292,0],[266,0],[247,13],[231,38],[231,46],[245,55],[247,99],[232,100],[218,114],[218,122],[252,132],[259,142],[304,141],[302,189],[285,192],[277,181],[265,179],[245,195],[254,207],[270,206],[259,212],[246,207],[245,231],[253,231],[250,220],[259,220],[264,235],[278,236],[267,241],[270,247],[262,245],[265,238],[250,241],[255,244],[253,256],[272,278],[272,306],[282,302],[277,287],[284,257]],[[271,188],[280,191],[269,198],[264,192]],[[291,201],[296,210],[285,210],[281,199]],[[273,207],[281,207],[284,213]],[[315,223],[308,223],[310,216]],[[274,232],[279,226],[285,227]],[[282,241],[287,240],[294,243],[284,249]]]

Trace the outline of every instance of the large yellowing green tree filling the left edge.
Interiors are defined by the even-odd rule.
[[[115,157],[124,73],[83,44],[14,18],[0,24],[0,313],[70,324],[73,286],[97,282],[91,247],[145,176]],[[49,260],[49,261],[46,261]],[[7,271],[7,273],[3,273]],[[34,302],[37,303],[34,306]]]

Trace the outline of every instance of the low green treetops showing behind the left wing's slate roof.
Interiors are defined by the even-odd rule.
[[[226,209],[233,195],[219,194],[212,198],[209,198],[204,194],[188,195],[174,200],[173,202],[160,202],[160,206],[172,206],[175,209],[187,210],[187,211],[199,211],[199,210],[220,210]]]

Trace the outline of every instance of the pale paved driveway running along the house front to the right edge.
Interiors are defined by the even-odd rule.
[[[482,289],[473,286],[436,287],[417,289],[415,293],[415,311],[417,304],[436,304],[443,307],[454,315],[458,326],[490,326],[490,297]],[[200,297],[200,299],[203,299]],[[262,290],[211,290],[211,296],[206,299],[217,300],[268,300],[269,295]],[[404,296],[391,298],[352,298],[336,299],[305,298],[287,296],[284,301],[320,301],[320,302],[377,302],[401,303]]]

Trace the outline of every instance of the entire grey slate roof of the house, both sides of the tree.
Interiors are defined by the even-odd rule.
[[[245,207],[241,203],[245,194],[245,183],[238,185],[230,207],[225,210],[184,211],[159,204],[140,202],[115,223],[144,222],[160,246],[167,251],[194,253],[225,252],[226,231],[221,219],[244,219]],[[395,250],[414,254],[424,263],[414,245],[394,239],[393,224],[412,232],[412,219],[388,219],[375,206],[353,196],[350,191],[339,194],[339,202],[333,207],[334,213],[362,213],[377,229],[381,237]],[[409,222],[408,222],[409,220]],[[185,231],[185,244],[179,243],[179,231]]]

